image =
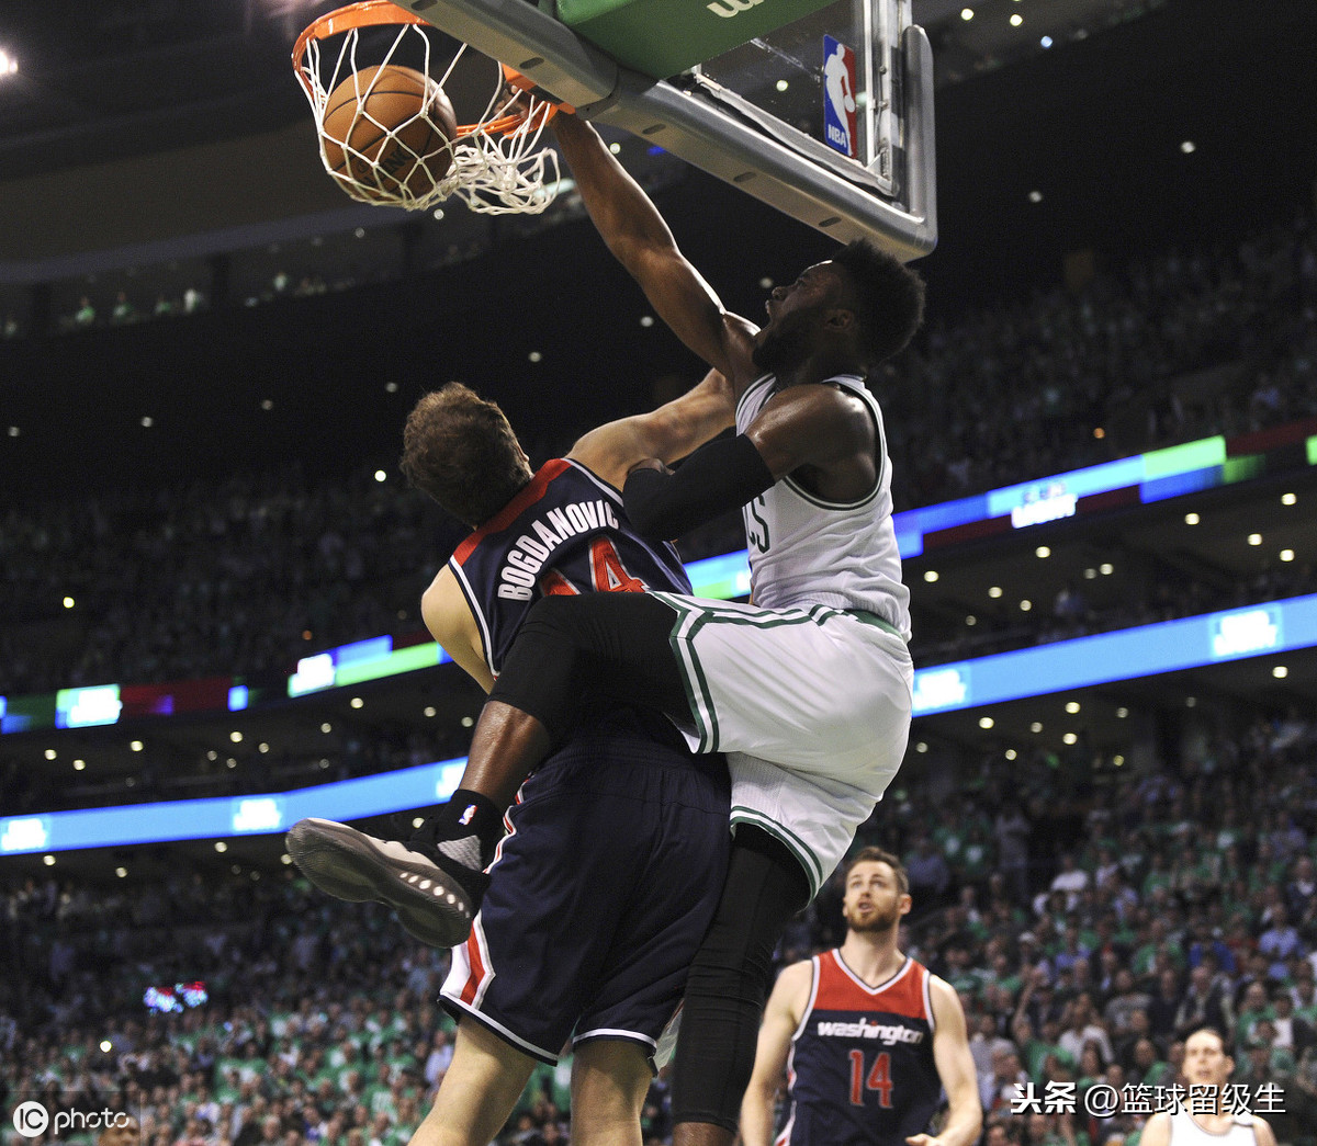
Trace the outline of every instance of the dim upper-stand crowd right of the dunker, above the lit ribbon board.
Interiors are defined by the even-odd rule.
[[[1308,418],[1317,232],[1300,216],[1080,289],[934,314],[885,374],[898,509]]]

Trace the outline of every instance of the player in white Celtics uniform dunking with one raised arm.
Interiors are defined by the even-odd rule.
[[[366,838],[340,834],[333,846],[345,870],[369,871],[391,895],[424,871],[435,930],[457,943],[503,808],[587,695],[653,705],[701,751],[727,751],[736,837],[687,982],[673,1108],[678,1146],[730,1143],[777,938],[905,753],[909,592],[882,417],[864,376],[918,328],[923,284],[852,243],[776,288],[759,329],[723,309],[594,129],[562,113],[554,124],[610,250],[739,400],[735,437],[697,450],[676,474],[658,461],[632,470],[628,517],[645,536],[670,538],[745,507],[753,604],[545,597],[481,713],[462,787],[406,845],[407,859],[382,857]]]

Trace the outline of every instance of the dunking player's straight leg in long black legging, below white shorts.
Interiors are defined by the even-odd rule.
[[[773,974],[773,951],[810,899],[803,868],[766,832],[741,826],[718,912],[686,979],[673,1068],[674,1146],[736,1137]]]

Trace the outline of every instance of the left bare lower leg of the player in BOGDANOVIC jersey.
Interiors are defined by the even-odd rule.
[[[533,1068],[533,1058],[478,1022],[460,1022],[439,1097],[410,1146],[487,1146],[512,1114]]]

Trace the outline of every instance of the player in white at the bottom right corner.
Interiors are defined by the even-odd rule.
[[[1225,1101],[1234,1059],[1218,1030],[1201,1026],[1184,1041],[1180,1070],[1188,1101],[1175,1113],[1163,1110],[1148,1118],[1142,1146],[1276,1146],[1276,1135],[1263,1118],[1235,1112]]]

